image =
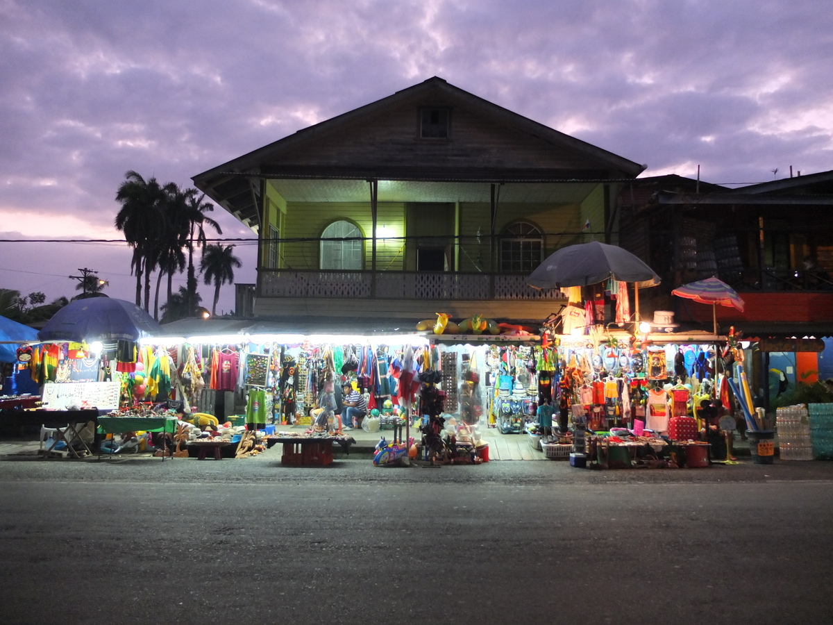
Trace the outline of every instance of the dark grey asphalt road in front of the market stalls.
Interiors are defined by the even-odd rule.
[[[833,622],[833,463],[0,461],[0,622]]]

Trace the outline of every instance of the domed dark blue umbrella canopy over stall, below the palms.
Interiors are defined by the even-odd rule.
[[[113,298],[77,299],[61,308],[37,333],[42,341],[138,341],[162,333],[142,308]]]

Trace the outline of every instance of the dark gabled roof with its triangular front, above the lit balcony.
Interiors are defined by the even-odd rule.
[[[456,128],[465,120],[493,148],[466,151],[474,134],[453,130],[451,141],[417,138],[416,108],[431,106],[451,109]],[[193,181],[242,218],[252,213],[262,178],[541,183],[634,178],[643,169],[432,77],[197,174]]]

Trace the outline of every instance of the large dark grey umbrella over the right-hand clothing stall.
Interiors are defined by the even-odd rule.
[[[532,288],[586,287],[613,278],[634,283],[636,321],[639,321],[638,289],[655,287],[660,277],[630,252],[617,245],[591,241],[568,245],[552,253],[541,263],[526,283]]]

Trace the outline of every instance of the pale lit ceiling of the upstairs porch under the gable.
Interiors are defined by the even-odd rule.
[[[369,202],[363,180],[272,178],[268,181],[287,202]],[[597,183],[504,183],[501,203],[580,203]],[[379,202],[489,203],[489,183],[379,181]]]

